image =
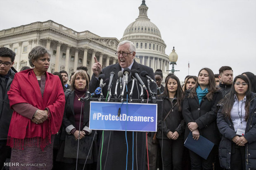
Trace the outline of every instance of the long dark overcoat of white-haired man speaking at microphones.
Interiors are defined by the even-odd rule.
[[[135,60],[133,62],[132,69],[137,69],[139,72],[147,71],[149,76],[154,80],[154,72],[153,69],[142,64],[138,64]],[[113,78],[113,85],[111,88],[111,93],[114,94],[116,80],[118,79],[118,72],[121,70],[119,63],[110,65],[102,69],[102,73],[106,75],[106,78],[109,78],[111,71],[115,72],[115,76]],[[131,76],[128,78],[128,90],[131,89],[132,81]],[[147,78],[142,77],[142,81],[147,85]],[[92,79],[90,81],[90,92],[93,92],[97,87],[99,87],[99,80],[97,80],[92,75]],[[156,85],[150,85],[152,92],[156,92]],[[140,87],[139,87],[140,91]],[[120,88],[117,89],[118,96],[120,94]],[[107,85],[103,89],[104,97],[107,96]],[[145,94],[145,93],[144,93]],[[137,86],[134,85],[133,89],[133,99],[138,99]],[[113,97],[113,96],[112,96]],[[136,134],[137,133],[137,134]],[[124,170],[126,169],[126,132],[125,131],[104,131],[104,141],[103,141],[103,150],[102,150],[102,165],[107,158],[106,168],[105,170]],[[137,136],[137,140],[136,140]],[[110,139],[109,139],[110,138]],[[132,169],[132,147],[133,147],[133,132],[127,131],[127,140],[128,140],[128,170]],[[136,144],[137,141],[137,144]],[[109,147],[108,147],[109,143]],[[102,140],[100,143],[101,151]],[[137,147],[137,148],[136,148]],[[107,148],[108,154],[107,154]],[[136,149],[137,149],[137,163],[139,170],[145,170],[146,168],[146,133],[145,132],[134,132],[134,168],[136,169]],[[100,156],[98,158],[98,169],[100,169]]]

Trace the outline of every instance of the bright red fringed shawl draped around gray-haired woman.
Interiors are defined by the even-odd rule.
[[[7,146],[23,149],[24,138],[26,138],[29,145],[36,145],[43,150],[51,143],[51,135],[59,131],[65,106],[62,84],[58,76],[46,72],[45,77],[45,90],[42,98],[33,69],[15,74],[10,90],[7,92],[10,107],[12,108],[17,103],[29,103],[40,110],[48,108],[50,112],[45,122],[35,124],[31,119],[14,111],[9,126]]]

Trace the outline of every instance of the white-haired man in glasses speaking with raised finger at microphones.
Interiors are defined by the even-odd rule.
[[[134,58],[136,54],[136,48],[134,44],[130,41],[122,41],[118,44],[116,55],[118,56],[118,63],[110,65],[102,69],[101,63],[97,62],[96,57],[95,63],[92,66],[92,79],[90,81],[89,90],[94,92],[94,90],[99,87],[100,81],[98,79],[100,74],[105,74],[106,78],[110,78],[110,73],[114,71],[113,85],[111,87],[111,93],[113,94],[116,87],[116,81],[119,79],[118,72],[123,71],[123,69],[129,68],[130,70],[137,69],[139,75],[141,71],[146,71],[148,76],[154,80],[153,69],[142,64],[138,64]],[[123,76],[125,77],[125,76]],[[140,77],[144,84],[147,86],[147,78]],[[132,88],[132,78],[131,74],[128,76],[128,90]],[[126,87],[123,87],[126,88]],[[150,89],[152,92],[156,92],[156,85],[150,84]],[[103,88],[104,97],[107,97],[107,85]],[[139,91],[140,87],[139,87]],[[126,89],[125,89],[126,92]],[[117,97],[120,95],[121,90],[118,86]],[[144,90],[144,94],[147,92]],[[137,86],[134,85],[133,88],[133,99],[138,99]],[[126,98],[126,93],[124,95]],[[144,96],[147,99],[147,95]],[[117,114],[117,112],[116,112]],[[129,110],[128,110],[129,115]],[[110,140],[109,140],[110,138]],[[127,170],[131,170],[132,166],[134,170],[145,170],[146,169],[146,132],[133,132],[127,131],[127,141],[128,141],[128,159],[127,159]],[[137,143],[136,143],[137,141]],[[132,151],[134,144],[134,150]],[[101,156],[102,150],[102,156]],[[125,131],[104,131],[104,140],[102,147],[102,140],[100,142],[100,150],[98,155],[97,170],[100,170],[100,159],[102,170],[126,170],[126,132]],[[136,152],[137,151],[137,152]],[[137,155],[136,155],[137,153]],[[134,161],[133,161],[134,160]],[[105,166],[106,163],[106,166]],[[105,168],[104,168],[105,166]]]

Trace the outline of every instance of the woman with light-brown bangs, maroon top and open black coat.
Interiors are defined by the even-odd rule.
[[[71,79],[71,91],[67,91],[65,94],[66,104],[62,120],[62,143],[57,154],[57,161],[61,165],[62,170],[76,170],[76,158],[73,158],[71,154],[75,154],[73,148],[77,148],[78,139],[80,140],[79,147],[83,149],[83,159],[78,159],[78,170],[83,170],[83,166],[86,160],[85,170],[95,170],[97,162],[97,142],[96,142],[96,131],[89,129],[89,114],[90,114],[90,102],[81,102],[81,98],[88,95],[87,89],[89,85],[88,76],[85,71],[78,70],[72,76]],[[83,110],[83,111],[82,111]],[[68,143],[68,138],[71,138],[73,145]],[[83,144],[83,145],[81,145]],[[90,149],[90,146],[92,148]],[[80,150],[79,149],[79,150]],[[75,149],[76,150],[76,149]],[[90,154],[87,152],[90,150]],[[79,156],[79,158],[81,158]]]

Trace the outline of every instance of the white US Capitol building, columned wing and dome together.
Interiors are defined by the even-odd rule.
[[[136,47],[137,62],[154,71],[162,69],[166,77],[169,69],[166,44],[159,29],[147,17],[147,9],[145,0],[142,0],[138,18],[128,25],[120,41],[132,41]],[[90,31],[76,32],[51,20],[0,31],[0,47],[10,48],[16,53],[13,67],[17,71],[29,66],[28,53],[33,47],[44,46],[52,54],[49,72],[65,70],[70,75],[83,65],[91,76],[94,56],[103,68],[118,62],[115,52],[120,41],[114,37],[100,37]]]

